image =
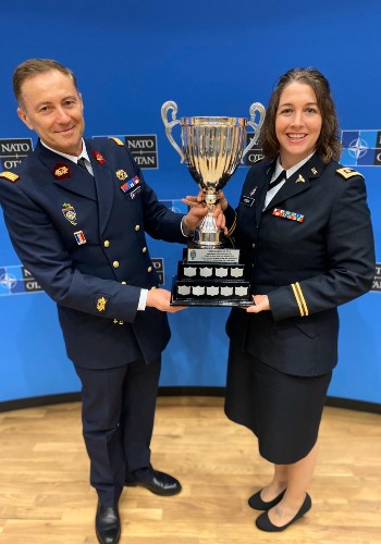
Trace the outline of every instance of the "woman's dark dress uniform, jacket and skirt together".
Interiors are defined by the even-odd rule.
[[[233,308],[228,319],[225,412],[257,434],[265,458],[291,463],[317,440],[337,363],[336,307],[370,289],[374,249],[358,172],[315,153],[263,209],[274,165],[254,164],[237,209],[225,212],[251,293],[271,308]]]

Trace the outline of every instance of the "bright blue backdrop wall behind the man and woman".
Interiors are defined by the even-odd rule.
[[[157,136],[158,168],[144,174],[170,201],[197,188],[167,140],[160,118],[164,101],[177,102],[177,116],[248,116],[253,102],[267,104],[280,74],[297,65],[319,69],[331,82],[342,129],[353,131],[343,162],[366,176],[379,259],[381,170],[367,149],[377,147],[369,141],[381,131],[378,0],[318,5],[304,0],[13,0],[1,2],[0,18],[0,146],[30,137],[35,144],[16,118],[11,76],[27,58],[53,58],[77,75],[87,137]],[[3,166],[20,160],[10,158],[9,149],[3,147]],[[226,187],[232,203],[246,173],[241,166]],[[163,259],[169,287],[181,246],[151,240],[150,252]],[[11,294],[17,279],[32,290]],[[79,387],[54,304],[33,290],[33,280],[24,280],[0,213],[0,401]],[[340,364],[330,395],[381,403],[379,300],[374,292],[341,308]],[[161,385],[224,385],[226,316],[222,308],[192,308],[170,317]]]

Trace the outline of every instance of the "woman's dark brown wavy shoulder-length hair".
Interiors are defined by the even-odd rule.
[[[270,97],[266,118],[259,135],[259,144],[262,147],[265,157],[273,158],[279,153],[279,141],[275,134],[275,116],[280,97],[285,87],[292,83],[302,83],[312,88],[322,120],[316,151],[324,163],[332,159],[337,161],[341,156],[342,145],[339,137],[337,114],[331,96],[330,84],[318,70],[311,67],[292,69],[280,77],[276,88]]]

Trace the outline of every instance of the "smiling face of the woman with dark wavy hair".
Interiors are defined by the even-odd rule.
[[[285,170],[315,150],[321,124],[314,89],[304,83],[287,85],[281,94],[275,116],[281,163]]]

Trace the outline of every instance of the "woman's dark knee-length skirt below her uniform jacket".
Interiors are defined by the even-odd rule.
[[[285,374],[231,349],[225,413],[256,434],[265,459],[297,462],[317,442],[331,376],[332,372],[312,378]]]

